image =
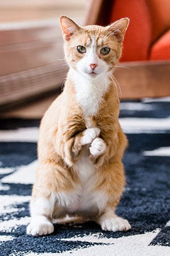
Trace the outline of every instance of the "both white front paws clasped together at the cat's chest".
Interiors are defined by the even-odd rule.
[[[89,150],[95,158],[103,154],[106,144],[103,139],[99,138],[100,129],[98,127],[88,128],[84,131],[82,145],[91,144]]]

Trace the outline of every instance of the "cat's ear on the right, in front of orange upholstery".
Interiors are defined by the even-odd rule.
[[[124,40],[128,25],[129,18],[122,18],[107,26],[106,29],[112,31],[112,35],[116,36],[119,42],[122,42],[122,40]]]

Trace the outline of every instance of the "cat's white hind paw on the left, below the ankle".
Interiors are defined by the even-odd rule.
[[[32,220],[27,226],[27,234],[32,236],[45,236],[46,234],[51,234],[54,232],[53,224],[46,218],[41,220],[37,217],[37,220]]]

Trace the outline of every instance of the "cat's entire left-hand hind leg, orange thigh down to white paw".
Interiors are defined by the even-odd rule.
[[[66,215],[64,192],[68,191],[69,194],[73,183],[71,169],[67,170],[62,164],[56,164],[52,160],[39,163],[32,189],[31,222],[27,227],[27,234],[45,236],[53,233],[52,219]]]

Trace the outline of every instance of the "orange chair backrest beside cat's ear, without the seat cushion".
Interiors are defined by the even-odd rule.
[[[148,60],[151,21],[145,0],[114,0],[110,22],[129,17],[121,61]]]

